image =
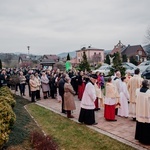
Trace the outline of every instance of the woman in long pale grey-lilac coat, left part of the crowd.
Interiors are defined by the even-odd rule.
[[[49,79],[47,78],[47,75],[45,72],[42,72],[41,85],[42,85],[44,99],[47,99],[50,87],[49,87]]]

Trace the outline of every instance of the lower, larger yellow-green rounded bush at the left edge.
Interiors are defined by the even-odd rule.
[[[9,139],[10,129],[16,120],[16,115],[6,101],[0,101],[0,149]]]

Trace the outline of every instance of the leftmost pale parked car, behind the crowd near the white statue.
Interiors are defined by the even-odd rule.
[[[100,73],[103,73],[104,76],[109,76],[111,69],[114,69],[114,68],[111,67],[110,65],[104,65],[96,70],[93,70],[93,73],[100,72]]]

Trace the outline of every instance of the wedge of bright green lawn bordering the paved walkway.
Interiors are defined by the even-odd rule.
[[[30,114],[35,118],[47,135],[53,136],[60,149],[63,150],[133,150],[108,136],[97,133],[68,118],[55,114],[36,104],[27,106]]]

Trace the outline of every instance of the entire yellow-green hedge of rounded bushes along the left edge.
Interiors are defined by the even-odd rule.
[[[8,141],[9,133],[16,121],[13,107],[16,101],[8,87],[0,88],[0,149]]]

